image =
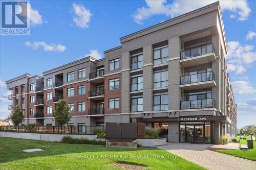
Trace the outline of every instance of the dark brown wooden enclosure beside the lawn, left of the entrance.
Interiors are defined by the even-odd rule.
[[[145,136],[143,123],[106,123],[106,139],[116,142],[131,142]]]

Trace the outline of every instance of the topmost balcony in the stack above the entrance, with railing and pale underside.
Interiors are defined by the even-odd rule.
[[[216,61],[213,44],[197,46],[180,52],[180,64],[184,67]]]

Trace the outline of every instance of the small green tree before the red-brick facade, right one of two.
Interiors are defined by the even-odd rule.
[[[56,104],[53,116],[60,126],[67,124],[71,119],[71,114],[69,112],[69,106],[67,102],[63,99],[59,100]]]

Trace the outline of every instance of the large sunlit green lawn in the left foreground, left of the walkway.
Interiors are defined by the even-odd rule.
[[[156,148],[106,148],[102,145],[68,144],[0,137],[0,169],[119,169],[108,164],[130,162],[146,169],[204,169]],[[24,149],[45,151],[25,153]],[[127,156],[127,157],[126,157]],[[147,158],[144,158],[144,157]],[[168,158],[154,158],[165,156]],[[93,158],[94,157],[94,158]]]

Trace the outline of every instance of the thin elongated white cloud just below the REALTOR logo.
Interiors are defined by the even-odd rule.
[[[51,51],[64,52],[66,50],[65,45],[60,45],[60,44],[56,45],[54,43],[51,43],[49,45],[45,41],[34,41],[33,43],[31,43],[30,41],[26,41],[25,45],[31,46],[35,50],[37,50],[39,46],[42,46],[44,48],[44,51],[46,52],[51,52]]]

